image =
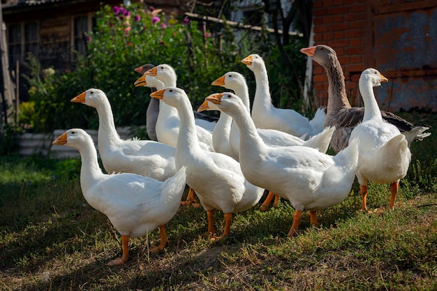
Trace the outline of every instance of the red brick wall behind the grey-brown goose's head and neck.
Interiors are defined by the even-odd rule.
[[[313,1],[314,45],[329,45],[339,57],[351,105],[360,104],[358,79],[366,69],[366,1]],[[322,66],[313,64],[316,100],[327,104],[327,77]],[[358,103],[356,102],[358,101]]]

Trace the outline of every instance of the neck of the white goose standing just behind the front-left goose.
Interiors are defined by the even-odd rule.
[[[96,107],[98,114],[98,147],[103,144],[113,144],[120,142],[120,136],[115,129],[114,116],[112,115],[111,105],[108,100]]]

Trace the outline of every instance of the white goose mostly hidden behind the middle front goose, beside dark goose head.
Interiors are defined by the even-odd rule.
[[[161,64],[150,70],[147,70],[145,75],[151,75],[161,80],[165,87],[176,87],[177,76],[175,69],[167,64]],[[139,82],[142,78],[138,79]],[[135,84],[137,83],[135,82]],[[158,120],[156,121],[156,135],[158,140],[170,144],[176,147],[177,135],[179,133],[179,114],[174,107],[171,107],[163,102],[159,103]],[[195,119],[197,137],[200,142],[202,149],[207,149],[209,151],[214,151],[212,145],[212,130],[214,130],[215,123],[205,120]],[[207,126],[208,129],[205,129]]]

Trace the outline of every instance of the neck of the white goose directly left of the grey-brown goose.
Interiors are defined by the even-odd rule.
[[[265,66],[260,66],[253,70],[255,75],[255,98],[253,98],[252,112],[269,110],[272,107],[272,97],[270,96],[269,77]]]

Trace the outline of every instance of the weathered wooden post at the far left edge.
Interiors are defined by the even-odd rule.
[[[14,116],[12,114],[15,100],[15,91],[13,83],[10,80],[9,61],[8,61],[8,45],[6,43],[6,24],[3,23],[3,10],[1,9],[0,1],[0,95],[1,95],[1,114],[5,124],[13,123]]]

